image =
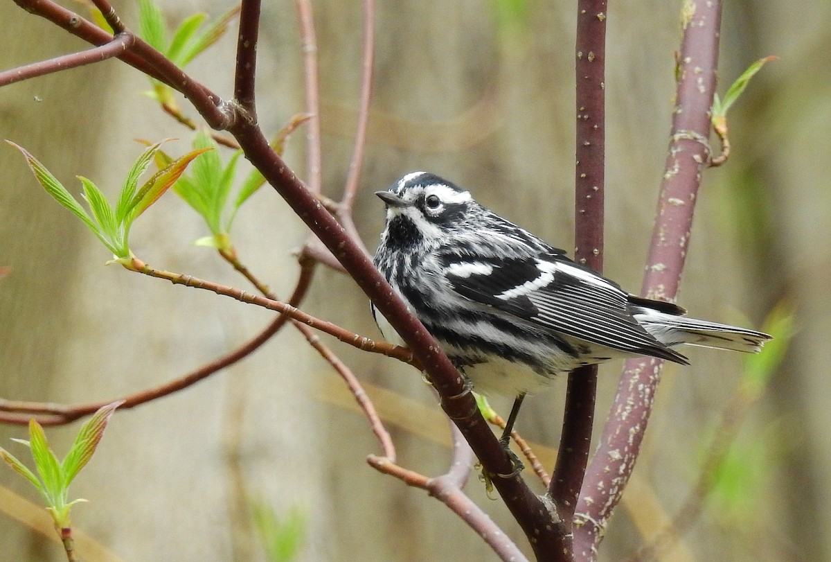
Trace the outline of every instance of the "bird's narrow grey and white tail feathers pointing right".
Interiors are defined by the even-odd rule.
[[[686,343],[702,348],[758,353],[765,342],[772,339],[768,334],[756,330],[676,316],[648,308],[640,308],[635,313],[635,318],[647,332],[667,346]]]

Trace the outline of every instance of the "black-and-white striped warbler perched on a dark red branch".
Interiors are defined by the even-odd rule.
[[[627,293],[438,175],[411,172],[375,195],[386,223],[373,264],[475,392],[515,398],[504,442],[525,395],[578,367],[643,356],[686,365],[681,344],[759,352],[771,339]],[[371,312],[388,342],[406,345]]]

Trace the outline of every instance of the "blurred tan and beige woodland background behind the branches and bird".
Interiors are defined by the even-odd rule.
[[[304,111],[300,44],[293,2],[264,4],[260,120],[276,131]],[[470,187],[500,214],[573,248],[573,2],[529,2],[519,22],[506,21],[495,5],[379,2],[370,143],[356,205],[370,249],[383,219],[372,191],[417,169]],[[173,25],[197,9],[216,16],[230,4],[163,6]],[[135,6],[116,7],[136,27]],[[337,198],[352,153],[362,7],[330,0],[314,7],[324,185]],[[670,126],[679,9],[680,2],[612,2],[608,14],[605,271],[635,292]],[[725,7],[721,91],[750,62],[780,60],[765,67],[730,115],[730,162],[706,172],[680,302],[701,318],[758,325],[787,298],[799,333],[740,432],[745,476],[738,499],[714,498],[664,560],[831,559],[829,9],[818,0],[799,9],[785,0]],[[3,69],[86,47],[11,2],[0,4],[0,21],[14,30],[2,40]],[[229,96],[233,56],[227,37],[189,71]],[[0,91],[0,136],[31,150],[74,193],[74,175],[82,174],[114,198],[140,153],[135,138],[178,136],[176,150],[189,145],[189,132],[140,95],[146,89],[143,76],[116,61],[18,83]],[[301,176],[303,136],[293,137],[287,154]],[[120,397],[228,352],[272,318],[212,293],[103,267],[106,249],[47,197],[6,145],[0,170],[0,265],[12,269],[0,279],[0,397]],[[297,270],[290,252],[305,229],[273,190],[255,200],[241,212],[234,239],[242,259],[287,295]],[[171,193],[140,219],[131,239],[149,264],[243,287],[209,249],[190,244],[205,234]],[[366,298],[332,271],[318,271],[302,308],[378,336]],[[418,373],[330,343],[362,381],[438,412]],[[691,367],[666,369],[636,469],[647,497],[669,515],[695,481],[741,372],[734,355],[689,355]],[[602,369],[598,419],[619,369]],[[564,387],[563,380],[529,401],[519,422],[527,436],[556,446]],[[122,560],[265,560],[235,507],[241,475],[248,492],[278,514],[297,509],[305,516],[300,560],[491,560],[443,505],[366,465],[376,441],[361,416],[332,404],[348,404],[339,393],[331,368],[287,328],[248,360],[185,392],[116,413],[72,487],[73,496],[91,502],[75,508],[77,529]],[[507,409],[508,402],[494,405]],[[402,465],[435,476],[450,453],[416,434],[423,422],[396,426],[393,437]],[[66,451],[77,426],[48,431],[57,451]],[[445,439],[439,428],[437,438]],[[8,438],[24,436],[22,427],[0,427],[0,444],[12,451],[24,452]],[[37,501],[23,484],[0,467],[0,486]],[[524,545],[501,501],[487,500],[482,487],[474,477],[467,491]],[[617,510],[600,560],[632,555],[651,535],[636,524],[651,516],[637,513],[647,505],[628,507]],[[0,560],[63,558],[57,545],[0,514]]]

